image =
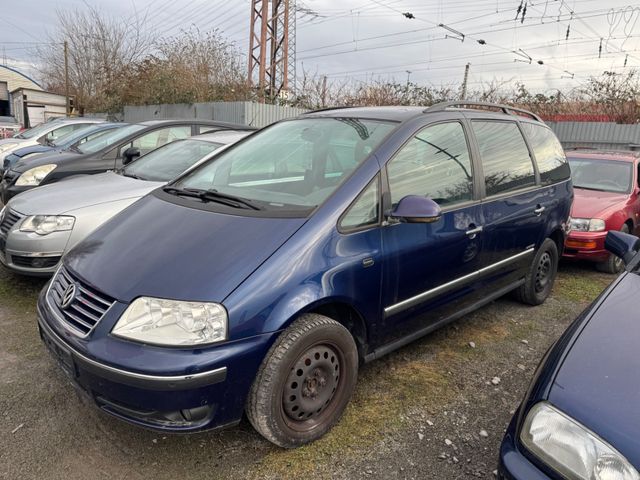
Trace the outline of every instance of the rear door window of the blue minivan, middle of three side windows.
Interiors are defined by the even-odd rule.
[[[533,162],[516,123],[474,120],[472,125],[488,196],[535,185]]]

